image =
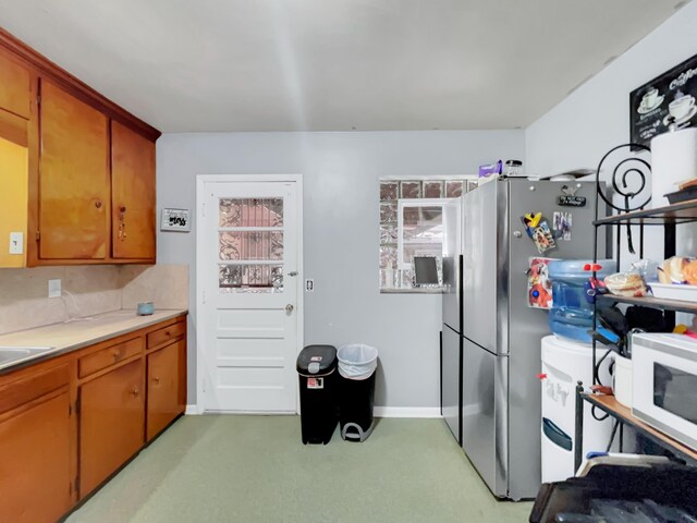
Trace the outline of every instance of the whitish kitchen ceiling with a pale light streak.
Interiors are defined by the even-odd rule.
[[[0,0],[0,26],[162,132],[514,129],[676,3]]]

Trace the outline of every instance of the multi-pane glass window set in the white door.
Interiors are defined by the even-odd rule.
[[[283,292],[283,198],[220,198],[220,292]]]

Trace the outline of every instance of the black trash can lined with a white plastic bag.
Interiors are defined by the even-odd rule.
[[[364,344],[339,349],[339,423],[345,441],[365,441],[372,433],[378,350]]]

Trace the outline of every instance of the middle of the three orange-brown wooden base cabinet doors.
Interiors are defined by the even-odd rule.
[[[81,498],[143,446],[143,360],[136,360],[81,387]]]

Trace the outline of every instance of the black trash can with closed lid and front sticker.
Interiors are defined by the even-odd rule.
[[[308,345],[298,354],[296,368],[303,443],[327,445],[339,421],[337,349]]]

